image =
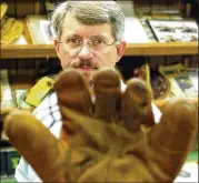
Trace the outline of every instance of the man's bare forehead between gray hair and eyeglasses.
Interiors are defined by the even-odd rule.
[[[93,35],[103,35],[107,38],[113,38],[112,27],[110,23],[101,24],[82,24],[73,17],[72,13],[67,13],[62,27],[62,38],[69,35],[80,35],[82,38],[90,38]]]

